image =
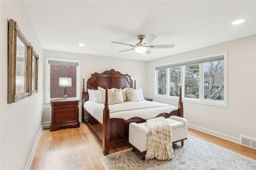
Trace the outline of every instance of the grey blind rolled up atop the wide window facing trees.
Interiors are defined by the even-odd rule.
[[[171,67],[180,67],[184,65],[193,65],[193,64],[199,64],[199,63],[208,63],[208,62],[213,62],[213,61],[221,61],[224,60],[224,55],[216,56],[216,57],[209,57],[209,58],[204,58],[204,59],[196,59],[192,61],[186,61],[186,62],[181,62],[181,63],[175,63],[175,64],[168,64],[168,65],[162,65],[158,66],[155,69],[167,69]]]

